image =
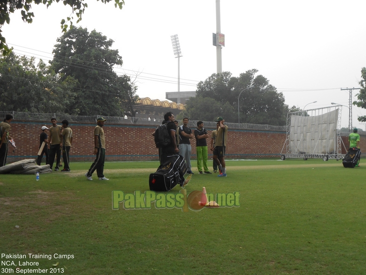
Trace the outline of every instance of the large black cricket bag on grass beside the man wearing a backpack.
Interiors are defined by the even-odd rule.
[[[148,184],[153,191],[169,191],[178,183],[184,183],[186,162],[181,155],[168,156],[155,173],[150,174]]]

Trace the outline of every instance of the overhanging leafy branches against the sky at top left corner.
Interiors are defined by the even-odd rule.
[[[5,24],[10,23],[10,13],[13,13],[15,10],[21,10],[21,17],[24,22],[32,23],[34,13],[31,12],[31,4],[45,4],[50,6],[53,2],[59,2],[60,0],[0,0],[0,50],[4,55],[10,53],[10,49],[7,47],[5,43],[5,37],[1,35],[1,28]],[[97,0],[98,1],[98,0]],[[103,3],[107,3],[111,0],[101,0]],[[124,0],[114,0],[115,7],[119,7],[122,9]],[[63,0],[64,5],[69,5],[72,9],[73,14],[76,14],[77,22],[81,20],[81,16],[84,13],[85,8],[87,7],[87,3],[84,3],[84,0]],[[63,32],[66,32],[68,28],[73,27],[73,16],[67,17],[67,20],[62,19],[61,27]],[[68,23],[70,22],[70,27]]]

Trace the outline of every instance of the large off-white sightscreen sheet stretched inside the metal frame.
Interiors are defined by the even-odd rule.
[[[291,115],[290,152],[329,154],[336,151],[338,109],[315,116]]]

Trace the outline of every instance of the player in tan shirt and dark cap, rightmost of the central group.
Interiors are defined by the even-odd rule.
[[[225,148],[227,139],[227,125],[224,125],[225,120],[221,116],[218,117],[216,122],[220,123],[218,129],[218,136],[215,140],[214,148],[214,161],[218,164],[220,169],[220,175],[218,177],[226,177],[226,167],[225,167]]]

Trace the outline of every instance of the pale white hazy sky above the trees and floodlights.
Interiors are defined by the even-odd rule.
[[[77,26],[115,41],[112,48],[119,50],[124,64],[114,70],[133,79],[138,75],[140,97],[164,99],[165,92],[177,91],[178,61],[170,41],[174,34],[183,55],[180,91],[195,91],[199,81],[217,72],[215,0],[125,0],[122,10],[114,1],[85,2],[88,8]],[[360,88],[366,66],[365,10],[365,0],[221,0],[222,70],[233,76],[259,70],[284,93],[290,107],[303,108],[315,100],[306,109],[330,102],[348,106],[349,92],[341,88]],[[2,34],[15,53],[47,61],[62,35],[61,19],[70,16],[71,8],[60,1],[48,10],[34,4],[32,11],[32,24],[16,12]],[[348,127],[348,111],[343,107],[342,127]],[[365,129],[359,115],[366,115],[366,109],[353,106],[353,126]]]

